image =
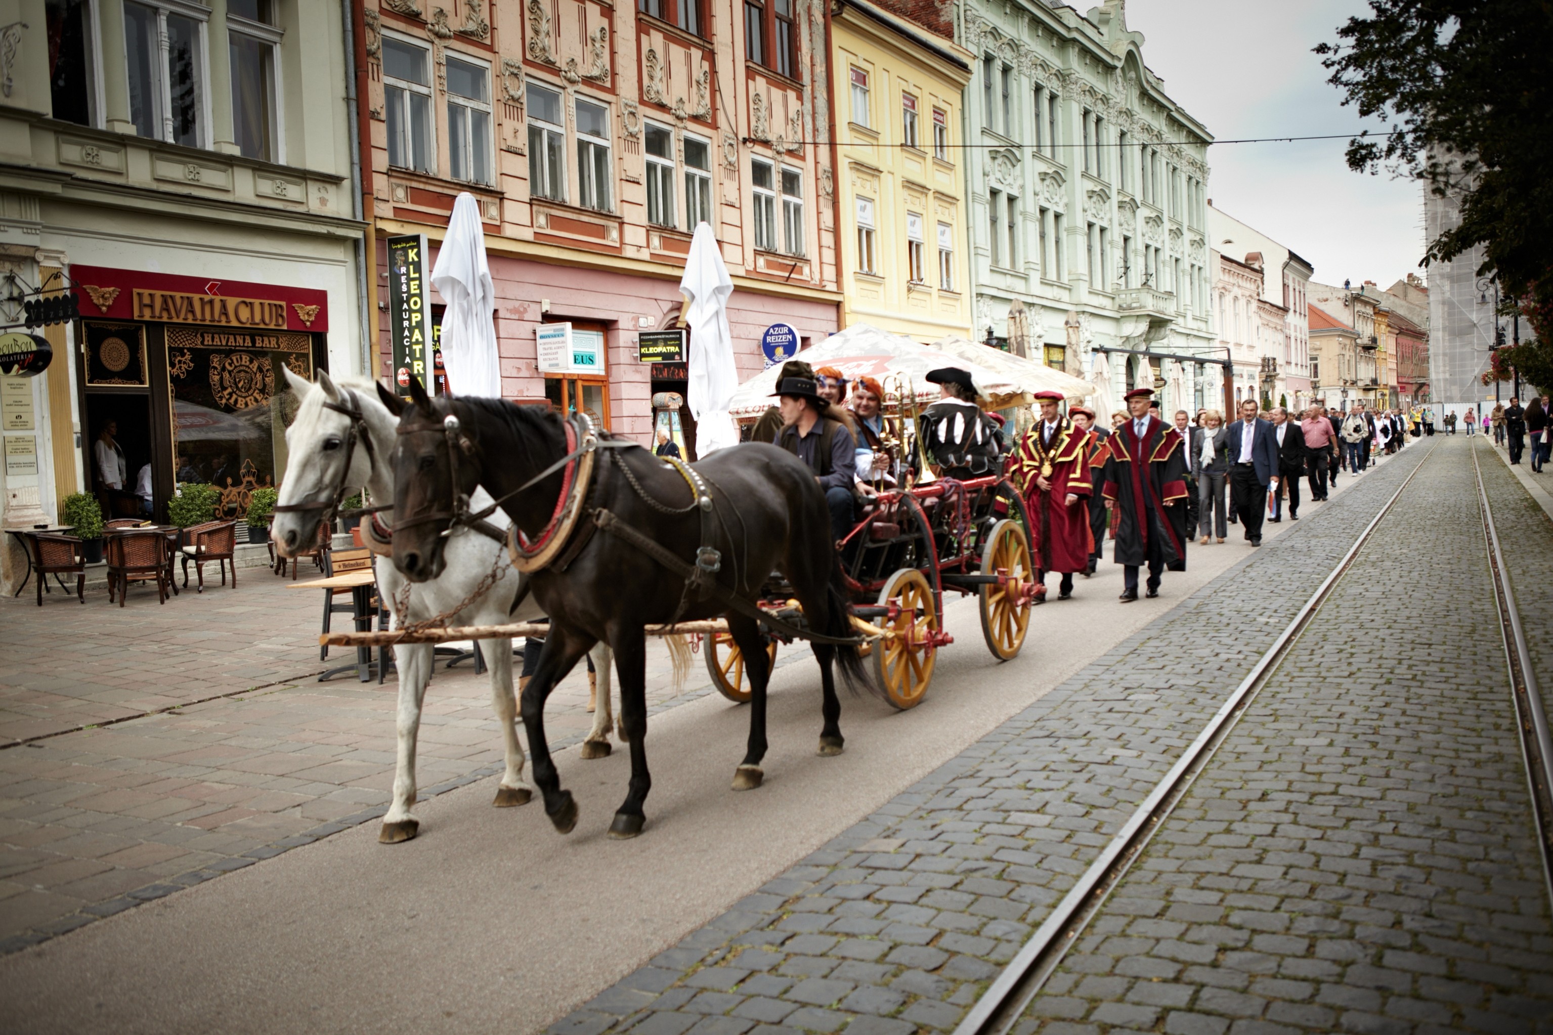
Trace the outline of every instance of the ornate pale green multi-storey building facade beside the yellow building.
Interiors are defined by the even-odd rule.
[[[1208,314],[1211,137],[1145,67],[1121,0],[1089,17],[1037,0],[969,0],[955,12],[975,56],[975,337],[1079,376],[1106,371],[1112,406],[1138,384],[1163,387],[1171,409],[1216,404],[1227,361]],[[1016,328],[1028,325],[1014,340],[1011,309]]]

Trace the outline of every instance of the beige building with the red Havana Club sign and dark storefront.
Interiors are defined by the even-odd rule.
[[[235,513],[284,474],[280,367],[370,370],[346,11],[3,0],[0,25],[0,322],[40,286],[81,311],[42,333],[3,521],[53,521],[76,491],[134,513],[143,468],[155,514],[191,480]],[[116,493],[92,460],[109,424]],[[6,581],[17,561],[8,541]]]

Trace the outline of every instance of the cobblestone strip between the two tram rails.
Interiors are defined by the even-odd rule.
[[[1469,449],[1446,443],[1409,486],[1020,1035],[1553,1030]],[[1531,500],[1482,460],[1503,525]],[[1419,525],[1427,552],[1405,535]],[[1429,622],[1396,612],[1415,584],[1451,587]]]

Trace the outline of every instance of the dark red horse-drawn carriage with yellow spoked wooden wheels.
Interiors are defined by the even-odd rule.
[[[1023,646],[1037,583],[1030,563],[1028,514],[1002,477],[941,479],[881,493],[843,539],[842,563],[853,615],[884,632],[870,648],[874,676],[898,709],[919,704],[933,678],[944,629],[944,591],[980,598],[986,648],[1008,660]],[[764,608],[801,619],[781,583]],[[770,636],[770,631],[767,631]],[[770,662],[780,636],[770,636]],[[705,642],[707,671],[730,701],[749,701],[744,657],[727,634]]]

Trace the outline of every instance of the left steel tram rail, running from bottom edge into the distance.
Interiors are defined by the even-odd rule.
[[[1332,591],[1342,581],[1343,575],[1357,559],[1359,553],[1370,542],[1376,528],[1385,521],[1387,514],[1407,491],[1407,486],[1413,482],[1418,472],[1429,463],[1438,443],[1430,444],[1429,452],[1419,458],[1418,465],[1407,474],[1402,485],[1385,500],[1376,516],[1368,525],[1359,533],[1353,545],[1343,553],[1342,559],[1332,567],[1315,592],[1300,606],[1294,619],[1284,626],[1273,640],[1272,646],[1252,665],[1250,671],[1239,682],[1239,685],[1230,693],[1225,702],[1214,712],[1213,718],[1208,720],[1207,726],[1197,735],[1196,740],[1182,752],[1180,758],[1174,766],[1154,785],[1154,789],[1143,799],[1141,803],[1127,817],[1121,830],[1110,839],[1100,856],[1089,866],[1087,870],[1079,876],[1078,883],[1068,890],[1068,894],[1058,903],[1051,911],[1051,915],[1036,929],[1036,932],[1020,946],[1019,953],[1003,967],[1002,973],[992,981],[981,998],[971,1007],[964,1019],[955,1027],[954,1035],[1008,1035],[1013,1032],[1019,1018],[1023,1016],[1030,1002],[1041,993],[1047,979],[1056,971],[1058,965],[1067,951],[1078,942],[1078,936],[1089,926],[1090,920],[1101,911],[1110,892],[1121,883],[1132,864],[1143,855],[1154,833],[1163,825],[1165,819],[1174,811],[1176,805],[1185,797],[1191,789],[1193,780],[1207,768],[1213,760],[1219,746],[1235,729],[1239,718],[1246,713],[1246,709],[1255,701],[1258,692],[1267,684],[1269,678],[1278,668],[1278,664],[1287,657],[1289,651],[1298,642],[1300,634],[1309,626],[1311,620],[1320,611],[1322,605],[1331,597]],[[1475,463],[1474,451],[1474,463]],[[1482,477],[1478,477],[1478,491],[1483,491]],[[1482,496],[1483,513],[1488,513],[1488,497]],[[1485,525],[1489,530],[1489,550],[1491,556],[1497,556],[1497,536],[1492,535],[1492,525]],[[1502,564],[1494,564],[1491,561],[1496,580],[1496,592],[1508,592],[1508,584],[1502,581]],[[1519,617],[1514,615],[1513,597],[1506,597],[1500,603],[1500,615],[1511,615],[1511,623],[1506,622],[1506,654],[1511,653],[1511,643],[1519,645],[1520,670],[1530,674],[1530,662],[1525,654],[1525,637],[1520,636]],[[1541,718],[1541,698],[1536,692],[1536,681],[1531,679],[1530,692],[1525,695],[1527,707],[1533,702],[1536,704],[1536,718]],[[1520,698],[1517,698],[1517,709],[1520,707]],[[1530,723],[1530,720],[1528,720]],[[1553,751],[1547,749],[1547,727],[1545,721],[1541,724],[1542,740],[1539,741],[1544,748],[1541,758],[1548,761],[1553,757]],[[1525,751],[1525,735],[1522,737]],[[1530,769],[1528,758],[1528,772]],[[1553,789],[1553,769],[1544,765],[1542,769],[1542,786],[1544,789]],[[1536,791],[1536,779],[1533,779],[1533,788]],[[1553,825],[1548,825],[1548,819],[1553,819],[1553,811],[1539,810],[1539,835],[1544,845],[1544,872],[1550,880],[1550,895],[1553,895]]]

